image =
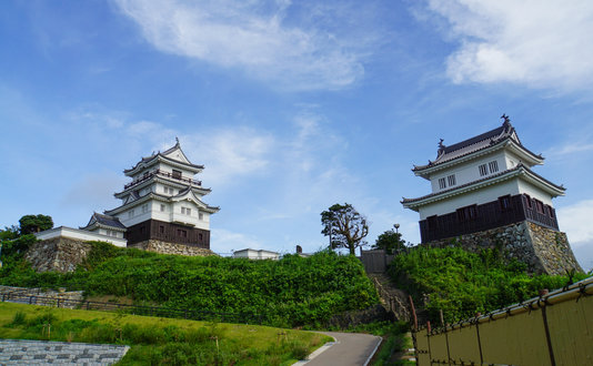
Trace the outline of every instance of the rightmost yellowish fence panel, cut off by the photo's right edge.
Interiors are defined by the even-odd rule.
[[[593,296],[546,307],[556,365],[593,365]]]

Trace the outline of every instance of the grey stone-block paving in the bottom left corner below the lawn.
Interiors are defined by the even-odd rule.
[[[0,339],[0,365],[112,365],[128,346]]]

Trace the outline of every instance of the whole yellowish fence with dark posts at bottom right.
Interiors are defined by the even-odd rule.
[[[444,328],[413,332],[418,364],[593,365],[593,277]]]

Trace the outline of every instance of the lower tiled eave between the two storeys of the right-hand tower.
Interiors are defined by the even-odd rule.
[[[565,189],[563,186],[556,185],[547,181],[543,176],[534,173],[532,170],[524,166],[523,164],[519,164],[517,166],[506,170],[504,172],[501,172],[499,174],[491,175],[489,177],[484,177],[482,180],[478,180],[474,182],[470,182],[470,183],[466,183],[466,184],[463,184],[463,185],[460,185],[453,189],[444,190],[438,193],[431,193],[431,194],[428,194],[428,195],[424,195],[418,199],[405,199],[404,197],[401,201],[401,204],[405,209],[410,209],[410,210],[418,212],[420,207],[425,206],[428,204],[448,200],[450,197],[464,194],[471,191],[480,190],[489,185],[499,184],[499,183],[502,183],[504,181],[507,181],[514,177],[522,179],[537,186],[544,192],[547,192],[553,197],[559,196],[559,195],[564,195]]]

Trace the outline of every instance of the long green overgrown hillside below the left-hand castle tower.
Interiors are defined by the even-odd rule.
[[[22,260],[34,241],[4,244],[0,283],[28,287],[83,289],[86,295],[114,295],[137,304],[262,315],[274,326],[319,326],[332,315],[378,303],[364,268],[353,256],[318,253],[280,261],[159,255],[107,243],[92,243],[76,272],[36,273]]]

